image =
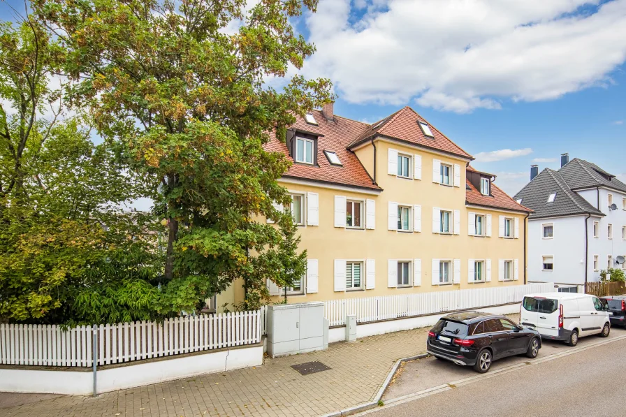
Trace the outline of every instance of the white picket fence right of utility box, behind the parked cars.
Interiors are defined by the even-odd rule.
[[[329,300],[324,302],[324,316],[331,326],[344,325],[348,314],[356,314],[357,323],[365,323],[521,302],[526,294],[552,291],[554,284],[541,283]]]

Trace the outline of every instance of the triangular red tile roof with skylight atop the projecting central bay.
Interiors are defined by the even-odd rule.
[[[430,126],[434,138],[425,136],[418,124],[423,122]],[[370,129],[366,129],[358,138],[351,142],[350,147],[358,145],[361,142],[371,138],[374,135],[383,135],[391,138],[409,142],[414,145],[437,149],[449,154],[463,156],[464,158],[473,159],[470,154],[458,147],[454,142],[446,138],[446,136],[438,131],[435,126],[426,122],[426,120],[418,115],[415,110],[409,106],[398,110],[393,115],[386,117],[381,122],[373,124]]]

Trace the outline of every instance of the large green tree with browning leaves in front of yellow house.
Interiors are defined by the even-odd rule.
[[[266,152],[295,115],[330,100],[330,82],[296,75],[266,84],[314,52],[290,20],[317,0],[35,0],[36,15],[68,51],[74,105],[133,156],[167,221],[161,312],[198,307],[244,277],[261,288],[264,251],[288,203],[276,180],[289,166]],[[256,279],[256,284],[252,283]],[[247,302],[244,307],[249,307]]]

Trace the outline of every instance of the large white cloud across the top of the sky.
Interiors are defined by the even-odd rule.
[[[320,0],[303,72],[353,103],[497,109],[611,84],[626,60],[626,0]]]

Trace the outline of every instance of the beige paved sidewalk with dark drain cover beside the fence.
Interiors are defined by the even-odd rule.
[[[105,393],[61,396],[0,416],[320,416],[371,401],[399,358],[425,351],[428,328],[330,344],[328,350],[266,358],[260,367]],[[291,365],[319,360],[330,370],[300,375]],[[2,396],[10,395],[0,393]]]

